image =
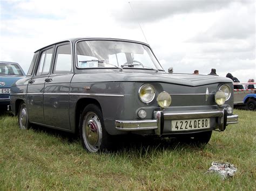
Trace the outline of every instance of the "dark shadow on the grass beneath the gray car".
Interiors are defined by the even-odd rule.
[[[31,127],[35,132],[43,132],[52,137],[58,137],[61,142],[73,144],[80,142],[80,137],[78,133],[70,133],[65,131],[60,131],[56,129],[45,128],[39,125],[33,125]],[[80,144],[82,147],[82,144]],[[113,145],[108,150],[103,151],[103,153],[118,153],[122,151],[139,151],[139,152],[147,152],[150,150],[177,150],[184,148],[193,148],[193,149],[201,149],[204,146],[194,146],[191,144],[187,144],[181,142],[180,139],[174,137],[164,137],[160,138],[157,136],[142,136],[142,135],[120,135],[113,137]]]

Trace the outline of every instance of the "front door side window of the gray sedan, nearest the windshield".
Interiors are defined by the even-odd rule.
[[[56,51],[56,62],[53,70],[54,74],[66,74],[71,73],[72,61],[71,61],[71,47],[70,44],[60,45]]]

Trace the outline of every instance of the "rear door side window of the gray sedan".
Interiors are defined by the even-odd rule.
[[[39,66],[36,75],[48,74],[51,66],[53,48],[44,51],[41,54]]]

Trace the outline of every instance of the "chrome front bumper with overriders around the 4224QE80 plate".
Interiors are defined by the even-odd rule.
[[[227,125],[238,123],[238,115],[227,115],[226,109],[186,112],[154,111],[153,119],[116,120],[116,129],[122,131],[154,130],[156,135],[162,135],[165,121],[197,118],[213,119],[214,127],[208,130],[224,131]]]

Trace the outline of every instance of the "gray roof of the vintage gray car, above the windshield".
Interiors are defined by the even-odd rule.
[[[47,46],[44,46],[42,48],[37,49],[37,51],[35,51],[35,53],[38,52],[38,51],[41,51],[41,49],[50,47],[52,45],[65,43],[65,42],[70,42],[72,44],[75,44],[79,40],[116,40],[116,41],[126,41],[126,42],[131,42],[131,43],[139,43],[139,44],[149,46],[149,44],[146,44],[146,43],[143,43],[143,42],[140,42],[140,41],[136,41],[136,40],[127,40],[127,39],[118,39],[118,38],[91,38],[91,37],[86,37],[86,38],[70,38],[70,39],[66,39],[66,40],[57,41],[56,43],[52,43],[50,45],[47,45]]]

